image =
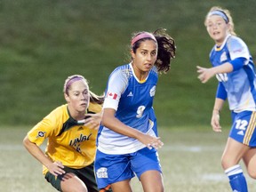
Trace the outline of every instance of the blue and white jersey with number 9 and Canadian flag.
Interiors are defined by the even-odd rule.
[[[116,118],[124,124],[156,136],[156,116],[152,106],[157,80],[155,67],[143,82],[135,76],[131,63],[116,68],[108,79],[103,108],[114,108]],[[145,148],[139,140],[113,132],[103,125],[100,125],[97,144],[101,152],[116,155]]]

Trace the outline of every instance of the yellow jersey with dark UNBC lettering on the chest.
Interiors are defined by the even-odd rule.
[[[99,113],[101,106],[90,103],[88,113]],[[36,124],[28,139],[40,146],[48,138],[45,154],[52,161],[60,161],[63,165],[80,169],[94,161],[96,153],[96,137],[98,130],[79,125],[69,116],[68,105],[52,110],[44,119]],[[43,165],[43,173],[48,169]]]

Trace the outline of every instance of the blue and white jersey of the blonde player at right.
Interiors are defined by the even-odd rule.
[[[222,92],[228,97],[230,110],[236,113],[244,110],[254,111],[256,101],[254,64],[244,41],[237,36],[227,36],[225,42],[220,47],[215,45],[210,53],[213,67],[236,58],[245,59],[243,67],[231,73],[217,74],[219,87],[222,87]]]

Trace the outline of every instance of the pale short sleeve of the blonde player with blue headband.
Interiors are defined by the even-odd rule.
[[[228,40],[228,51],[230,59],[235,60],[236,58],[245,58],[244,64],[247,65],[250,60],[250,52],[244,41],[238,37],[233,37]]]

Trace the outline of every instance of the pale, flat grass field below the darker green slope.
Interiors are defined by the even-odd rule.
[[[4,192],[53,192],[42,175],[42,166],[22,146],[29,128],[1,128],[0,188]],[[188,131],[190,130],[190,131]],[[210,127],[159,129],[164,147],[159,156],[167,192],[228,192],[228,179],[220,167],[227,131],[212,132]],[[247,175],[245,174],[247,177]],[[247,177],[248,178],[248,177]],[[255,191],[248,178],[249,191]],[[255,183],[255,182],[254,182]],[[139,181],[132,180],[134,192],[141,192]]]

